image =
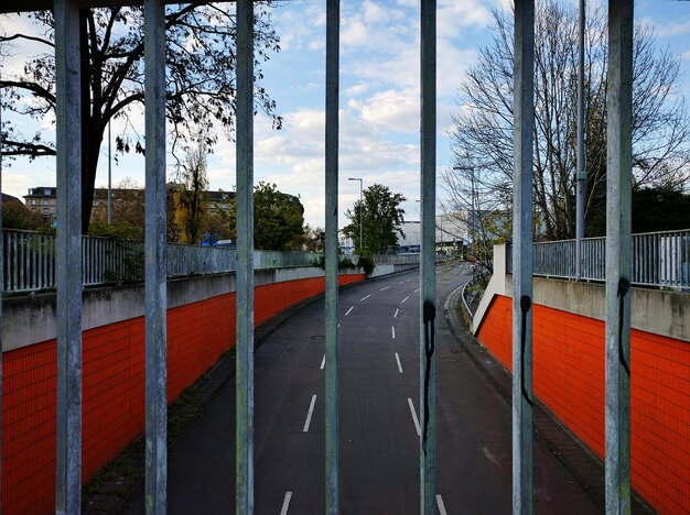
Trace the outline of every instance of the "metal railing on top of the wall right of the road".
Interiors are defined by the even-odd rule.
[[[513,253],[506,254],[513,272]],[[633,277],[639,286],[690,288],[690,229],[633,234]],[[533,273],[546,277],[575,277],[575,240],[535,243]],[[605,281],[606,238],[582,240],[582,278]]]

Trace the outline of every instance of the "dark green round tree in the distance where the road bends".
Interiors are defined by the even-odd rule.
[[[345,216],[349,224],[343,233],[355,243],[355,252],[368,250],[385,254],[398,246],[398,234],[405,237],[400,226],[405,221],[405,210],[400,204],[407,198],[402,194],[393,194],[388,186],[375,184],[364,190],[364,199],[357,200],[353,209]],[[359,244],[359,220],[362,220],[363,244]]]

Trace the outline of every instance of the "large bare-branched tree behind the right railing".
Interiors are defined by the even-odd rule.
[[[574,237],[578,10],[556,0],[537,2],[535,41],[535,215],[546,239]],[[606,18],[587,13],[585,28],[585,218],[605,205]],[[513,13],[494,11],[492,42],[460,86],[460,110],[451,140],[454,164],[472,168],[494,209],[510,209],[513,188]],[[633,160],[635,187],[688,178],[690,119],[677,90],[680,58],[656,46],[651,29],[638,24],[634,40]],[[467,174],[449,172],[446,189],[467,189]],[[464,197],[463,197],[464,198]]]

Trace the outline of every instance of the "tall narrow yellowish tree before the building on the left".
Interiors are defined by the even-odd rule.
[[[188,152],[180,168],[175,188],[175,224],[180,229],[180,243],[196,244],[207,226],[204,194],[208,188],[206,150],[202,146]]]

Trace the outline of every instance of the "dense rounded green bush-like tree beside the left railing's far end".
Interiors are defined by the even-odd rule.
[[[237,240],[237,204],[228,198],[225,215],[230,238]],[[278,190],[273,183],[254,187],[254,246],[259,250],[301,250],[304,207],[299,197]]]

